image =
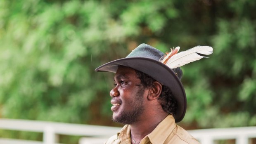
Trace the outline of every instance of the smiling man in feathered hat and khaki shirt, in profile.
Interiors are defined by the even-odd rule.
[[[212,48],[177,52],[172,50],[164,58],[163,52],[141,44],[126,58],[95,69],[115,73],[115,87],[110,91],[113,120],[126,124],[106,144],[199,144],[175,124],[185,116],[187,105],[178,66],[201,59],[198,53],[211,54]]]

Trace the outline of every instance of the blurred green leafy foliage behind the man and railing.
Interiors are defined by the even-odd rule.
[[[178,125],[256,126],[255,9],[255,0],[0,0],[0,118],[121,127],[111,120],[114,74],[94,70],[147,43],[213,47],[182,67],[188,107]]]

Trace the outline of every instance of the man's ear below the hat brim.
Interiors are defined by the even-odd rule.
[[[158,97],[160,96],[161,92],[162,92],[162,85],[161,85],[161,83],[155,81],[153,83],[153,87],[151,87],[149,89],[149,95],[147,96],[147,98],[149,100],[158,99]]]

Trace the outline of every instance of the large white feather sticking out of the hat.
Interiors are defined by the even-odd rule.
[[[169,68],[177,68],[185,64],[188,64],[192,61],[197,61],[204,57],[199,54],[209,55],[212,53],[213,53],[213,48],[209,46],[193,47],[189,50],[180,52],[178,54],[174,54],[172,57],[168,59],[168,61],[166,61],[166,65]]]

